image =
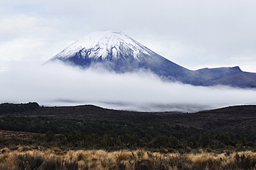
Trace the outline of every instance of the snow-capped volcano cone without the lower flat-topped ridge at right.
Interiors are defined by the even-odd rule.
[[[55,60],[82,68],[104,67],[117,73],[145,69],[181,82],[183,77],[191,72],[154,53],[124,33],[112,31],[86,35],[50,59]]]

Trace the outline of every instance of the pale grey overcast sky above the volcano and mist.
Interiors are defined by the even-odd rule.
[[[15,75],[15,70],[33,72],[73,41],[98,30],[125,32],[192,70],[239,66],[256,73],[255,16],[253,0],[0,1],[1,81],[3,77],[10,80],[8,74]],[[45,75],[42,70],[38,74]],[[25,81],[12,83],[27,85]],[[11,82],[6,86],[12,88]],[[6,101],[4,97],[0,100]],[[238,104],[253,100],[252,96]]]

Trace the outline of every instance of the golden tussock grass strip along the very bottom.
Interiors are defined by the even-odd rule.
[[[256,169],[252,151],[159,153],[9,147],[0,150],[0,169]]]

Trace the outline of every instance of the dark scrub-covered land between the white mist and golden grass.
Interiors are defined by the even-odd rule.
[[[38,133],[26,140],[2,137],[1,147],[33,144],[63,149],[256,150],[256,106],[199,113],[140,113],[91,105],[39,107],[36,103],[1,104],[1,109],[8,112],[1,112],[0,130]]]

